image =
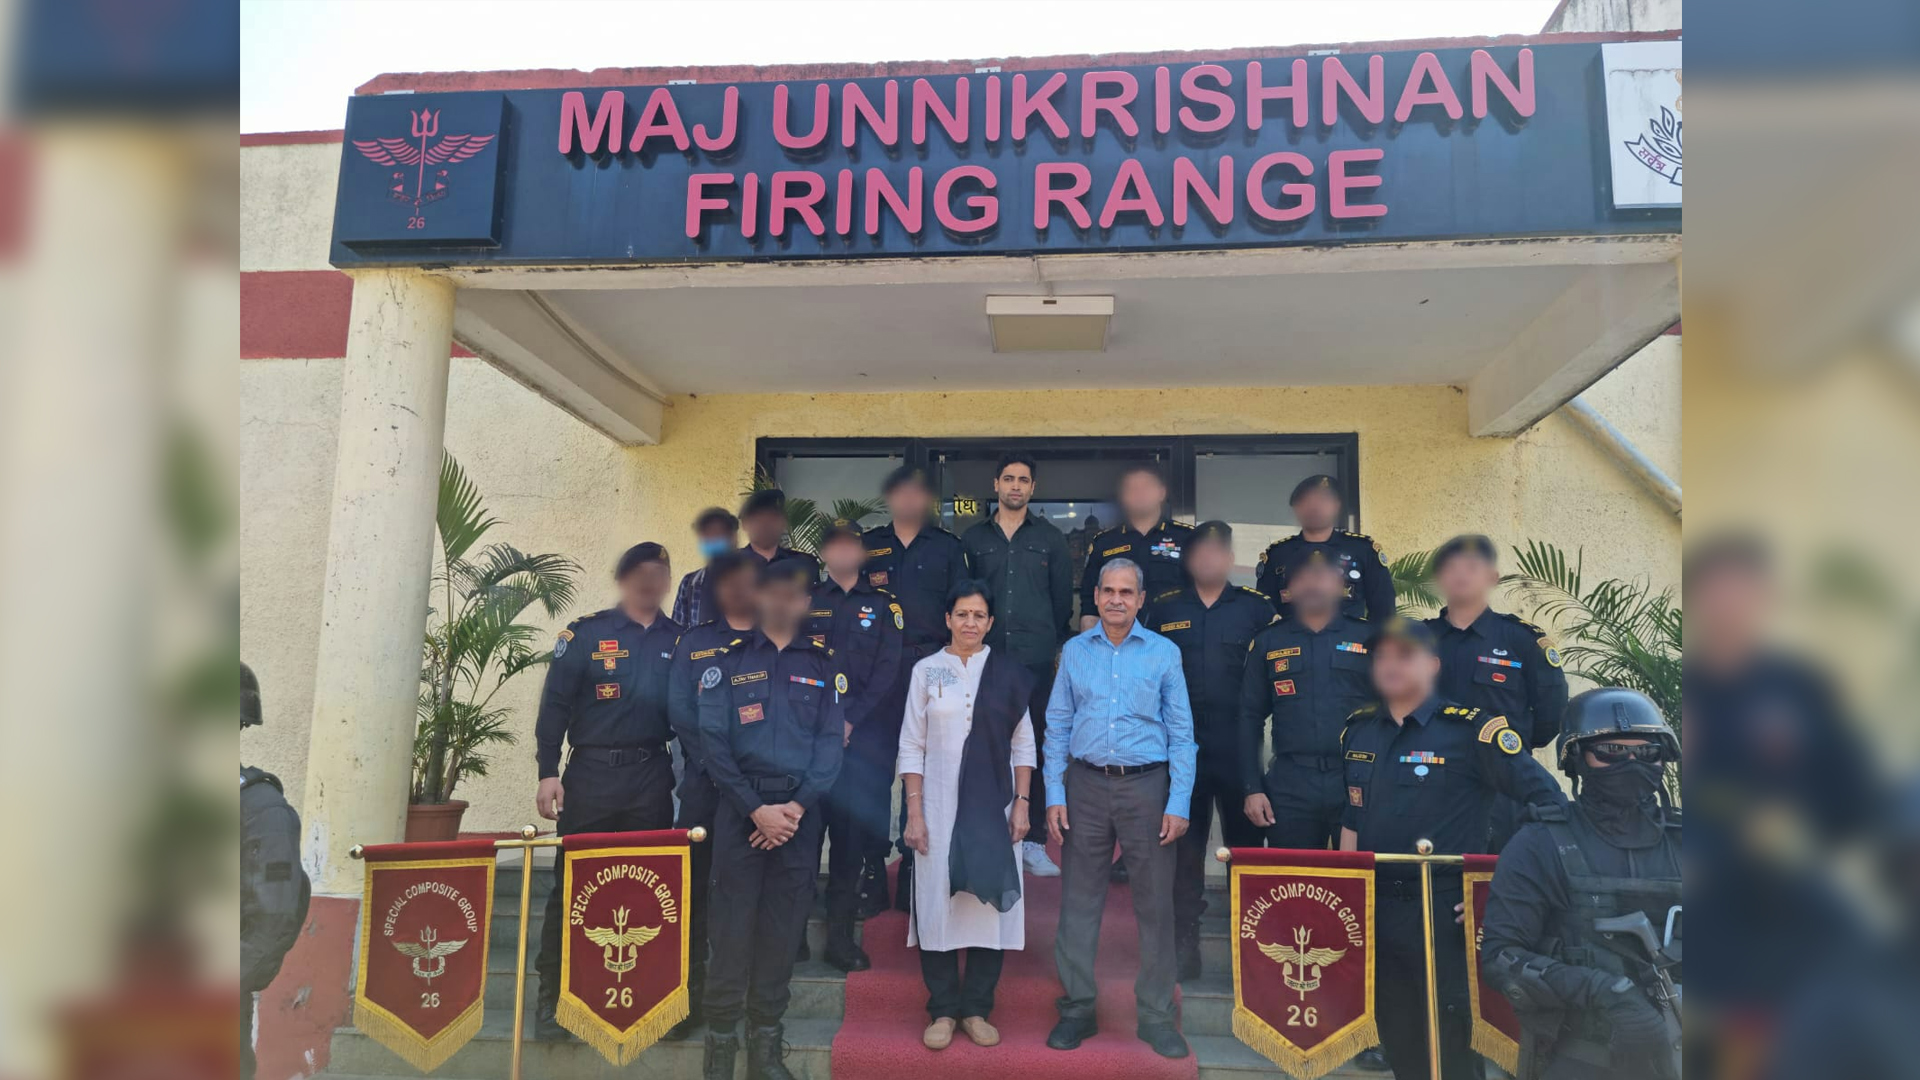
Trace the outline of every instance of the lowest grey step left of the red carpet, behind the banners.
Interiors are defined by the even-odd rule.
[[[837,1030],[839,1020],[801,1020],[789,1017],[785,1038],[787,1068],[801,1080],[828,1080],[828,1068],[833,1059],[833,1032]],[[532,1017],[528,1019],[528,1034],[532,1034]],[[699,1032],[685,1042],[660,1040],[632,1063],[614,1067],[584,1042],[536,1042],[528,1038],[522,1043],[522,1074],[566,1076],[568,1080],[699,1080],[703,1045],[705,1042]],[[745,1057],[741,1053],[737,1065],[741,1074],[747,1068]],[[499,1080],[509,1074],[511,1065],[511,1024],[488,1017],[480,1026],[480,1034],[434,1070],[434,1076],[436,1080],[455,1076]],[[357,1030],[338,1028],[334,1030],[332,1061],[326,1067],[326,1076],[419,1076],[419,1070]]]

